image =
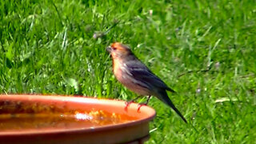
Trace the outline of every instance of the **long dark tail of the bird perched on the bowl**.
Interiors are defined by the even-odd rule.
[[[166,105],[170,106],[181,118],[184,122],[186,122],[186,118],[183,117],[182,113],[174,106],[174,103],[171,102],[170,98],[168,97],[166,90],[159,90],[157,98],[160,99],[162,102],[165,102]],[[186,122],[187,123],[187,122]]]

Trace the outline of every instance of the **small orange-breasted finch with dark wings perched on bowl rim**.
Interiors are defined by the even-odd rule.
[[[113,59],[114,75],[122,85],[141,96],[148,96],[145,105],[149,102],[151,95],[155,96],[166,103],[166,105],[170,106],[182,120],[186,122],[186,118],[182,116],[166,93],[166,90],[170,92],[175,91],[166,86],[165,82],[162,82],[160,78],[154,75],[133,54],[128,46],[120,42],[114,42],[111,46],[107,47],[106,50],[110,52]]]

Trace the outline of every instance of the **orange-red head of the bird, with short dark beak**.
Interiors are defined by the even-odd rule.
[[[106,50],[110,52],[112,58],[125,58],[132,54],[130,48],[120,42],[112,43],[111,46],[106,48]]]

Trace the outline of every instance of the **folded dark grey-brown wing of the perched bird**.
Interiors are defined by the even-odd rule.
[[[129,70],[129,73],[134,77],[134,81],[139,82],[140,85],[149,86],[148,88],[154,88],[156,86],[174,92],[174,90],[166,86],[165,82],[162,82],[142,62],[130,61],[126,62],[126,66],[128,68],[126,70]]]

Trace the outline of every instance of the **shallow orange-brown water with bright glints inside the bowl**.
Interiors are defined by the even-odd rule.
[[[103,110],[68,110],[40,103],[0,102],[0,132],[74,130],[134,121],[138,118]]]

